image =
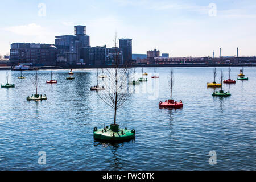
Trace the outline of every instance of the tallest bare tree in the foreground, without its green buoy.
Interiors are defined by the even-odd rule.
[[[117,33],[115,33],[113,62],[111,68],[102,69],[102,72],[108,74],[108,79],[104,80],[105,90],[98,92],[98,96],[106,105],[114,110],[114,125],[117,121],[117,109],[121,107],[130,98],[131,93],[127,92],[129,76],[131,75],[131,68],[129,63],[122,63],[120,56],[122,52],[117,48]]]

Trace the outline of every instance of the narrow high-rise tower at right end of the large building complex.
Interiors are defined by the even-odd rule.
[[[131,63],[133,60],[132,39],[119,39],[119,48],[123,49],[123,62]]]

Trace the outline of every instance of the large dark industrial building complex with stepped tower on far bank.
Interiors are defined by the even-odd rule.
[[[110,65],[114,55],[123,64],[132,61],[132,39],[119,39],[119,48],[90,46],[90,36],[86,35],[86,26],[74,26],[74,35],[55,37],[55,45],[13,43],[10,60],[14,64],[32,65]]]

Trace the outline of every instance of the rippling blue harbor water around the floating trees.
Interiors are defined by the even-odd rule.
[[[93,128],[113,123],[114,110],[90,87],[97,84],[97,69],[54,70],[57,84],[46,84],[51,70],[38,71],[38,93],[46,101],[27,101],[35,94],[35,71],[9,71],[15,88],[0,89],[0,170],[255,170],[256,68],[245,67],[248,81],[237,80],[240,67],[232,67],[236,84],[223,84],[232,96],[213,97],[212,67],[174,69],[176,101],[183,109],[159,109],[170,97],[171,68],[144,68],[148,82],[129,86],[130,99],[117,114],[120,127],[136,130],[128,142],[104,143],[93,139]],[[217,68],[228,78],[228,67]],[[142,77],[136,69],[135,80]],[[144,76],[146,78],[146,76]],[[6,84],[6,71],[0,71]],[[102,84],[102,81],[100,81]],[[219,90],[219,88],[216,88]],[[102,91],[104,92],[104,91]],[[39,152],[46,164],[39,164]],[[209,152],[216,164],[209,164]]]

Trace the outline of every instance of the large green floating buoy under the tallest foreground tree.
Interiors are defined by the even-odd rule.
[[[135,138],[135,130],[119,129],[119,125],[110,125],[110,129],[106,126],[103,129],[94,128],[94,139],[105,141],[123,141]]]

